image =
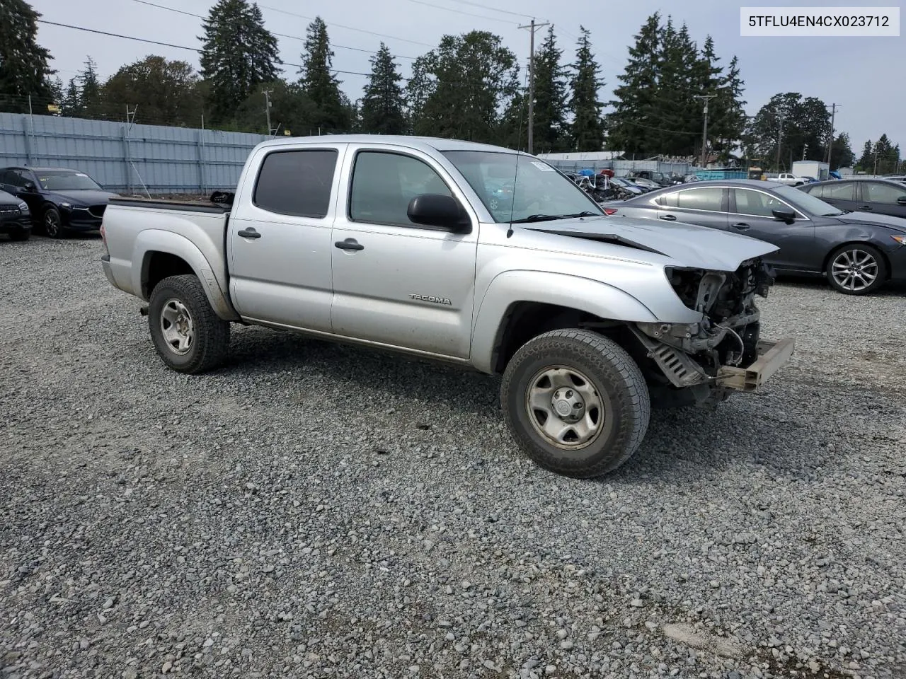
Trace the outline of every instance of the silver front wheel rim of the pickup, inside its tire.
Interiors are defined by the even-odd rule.
[[[547,443],[562,450],[579,450],[601,434],[602,398],[581,371],[551,366],[536,372],[528,384],[525,410]]]

